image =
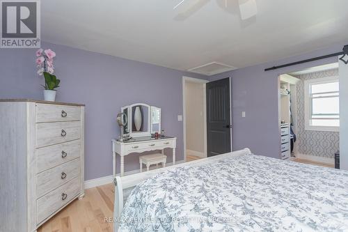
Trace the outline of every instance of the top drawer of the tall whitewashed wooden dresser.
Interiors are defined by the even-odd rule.
[[[36,123],[81,120],[81,108],[66,105],[36,105]]]

